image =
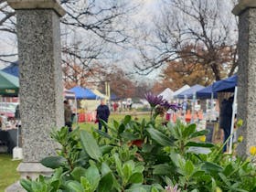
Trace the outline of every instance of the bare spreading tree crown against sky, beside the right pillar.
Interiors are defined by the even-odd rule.
[[[136,69],[147,74],[187,58],[189,64],[211,69],[216,80],[232,75],[238,66],[237,21],[231,13],[235,1],[164,2],[162,14],[155,20],[155,37],[145,42],[148,48],[140,48],[144,63],[136,63]],[[194,48],[187,48],[191,46]]]

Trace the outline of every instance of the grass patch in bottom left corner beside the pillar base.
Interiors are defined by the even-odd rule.
[[[16,167],[20,161],[12,161],[12,155],[0,154],[0,192],[19,179]]]

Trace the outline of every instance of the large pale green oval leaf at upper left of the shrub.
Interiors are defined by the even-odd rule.
[[[90,155],[92,159],[100,161],[100,157],[102,156],[101,150],[91,133],[81,130],[80,141],[82,148],[87,152],[87,154]]]

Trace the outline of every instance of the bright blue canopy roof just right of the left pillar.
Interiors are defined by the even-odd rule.
[[[91,90],[82,88],[80,86],[73,87],[69,91],[74,92],[78,100],[96,100],[97,99],[97,95],[94,94]]]

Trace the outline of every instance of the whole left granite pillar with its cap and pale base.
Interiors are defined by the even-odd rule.
[[[39,162],[55,154],[49,133],[64,125],[59,17],[65,11],[56,0],[7,2],[16,10],[20,70],[23,162],[17,169],[22,177],[48,175]]]

